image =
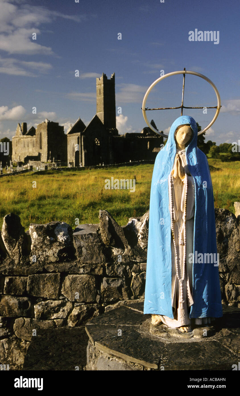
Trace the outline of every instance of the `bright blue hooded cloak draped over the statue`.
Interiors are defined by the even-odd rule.
[[[153,168],[144,314],[159,314],[174,319],[168,175],[174,166],[176,155],[174,132],[178,126],[184,124],[190,125],[193,130],[192,139],[186,147],[186,161],[195,183],[192,285],[194,303],[190,308],[189,318],[218,318],[223,316],[218,266],[214,260],[201,262],[204,253],[213,253],[212,257],[217,261],[212,180],[207,158],[197,147],[197,124],[190,116],[181,116],[174,121],[168,141],[157,154]]]

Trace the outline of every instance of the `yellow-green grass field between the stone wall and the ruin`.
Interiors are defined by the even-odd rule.
[[[209,159],[219,170],[211,171],[215,208],[234,213],[240,201],[240,162]],[[83,171],[30,172],[0,179],[2,218],[9,212],[21,217],[25,230],[30,223],[65,221],[79,224],[99,223],[99,209],[108,210],[120,225],[129,217],[142,216],[149,209],[153,164]],[[105,179],[136,179],[136,190],[106,190]],[[36,181],[36,188],[32,182]]]

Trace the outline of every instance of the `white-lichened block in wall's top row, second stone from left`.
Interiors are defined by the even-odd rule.
[[[47,224],[30,224],[32,255],[40,263],[71,261],[75,257],[72,228],[59,221]]]

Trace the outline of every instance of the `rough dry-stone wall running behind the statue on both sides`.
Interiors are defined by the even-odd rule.
[[[215,209],[222,302],[240,307],[239,217]],[[33,331],[75,327],[123,300],[143,299],[149,211],[119,226],[108,211],[75,230],[4,217],[0,238],[0,363],[21,366]],[[16,352],[15,352],[16,351]],[[1,362],[2,360],[2,362]]]

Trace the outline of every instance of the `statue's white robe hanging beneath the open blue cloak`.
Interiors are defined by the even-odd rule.
[[[186,163],[185,149],[178,150],[177,154],[181,159],[181,164],[184,173],[189,173]],[[176,154],[176,155],[177,155]],[[176,157],[175,157],[176,160]],[[189,319],[189,307],[193,305],[192,297],[192,267],[193,264],[189,263],[189,253],[193,253],[193,235],[194,235],[194,215],[195,215],[195,185],[192,176],[187,175],[187,206],[186,206],[186,223],[184,225],[183,215],[184,215],[184,205],[186,196],[186,186],[185,181],[181,180],[178,175],[178,169],[176,166],[176,161],[174,161],[174,176],[173,180],[173,208],[171,201],[171,173],[168,177],[168,189],[169,189],[169,209],[172,213],[174,209],[174,219],[173,219],[173,231],[174,239],[176,241],[176,248],[178,254],[178,265],[180,269],[179,278],[182,278],[183,274],[183,257],[184,257],[184,245],[180,244],[180,240],[183,240],[186,244],[186,261],[185,261],[185,277],[183,279],[183,304],[180,304],[180,281],[178,280],[176,274],[176,253],[174,249],[173,238],[171,239],[171,251],[172,251],[172,307],[174,310],[174,319],[170,319],[167,316],[159,315],[162,322],[169,327],[180,327],[191,325],[191,320]],[[184,229],[185,228],[185,229]],[[184,241],[185,233],[185,241]],[[210,323],[210,318],[203,318],[203,323]],[[198,318],[195,320],[195,324],[202,324],[202,319]]]

